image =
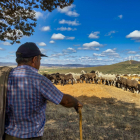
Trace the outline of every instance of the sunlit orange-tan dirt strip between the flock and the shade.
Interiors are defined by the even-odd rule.
[[[121,88],[114,86],[101,85],[101,84],[74,84],[74,85],[57,85],[60,91],[66,94],[70,94],[74,97],[86,96],[92,97],[96,96],[98,98],[115,98],[120,101],[135,103],[137,107],[140,107],[140,94],[123,91]],[[81,100],[84,100],[81,99]],[[93,100],[93,102],[95,101]]]

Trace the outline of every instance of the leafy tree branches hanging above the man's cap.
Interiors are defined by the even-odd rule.
[[[31,36],[36,27],[35,11],[51,12],[57,6],[64,8],[74,0],[0,0],[0,40],[20,43],[23,36]]]

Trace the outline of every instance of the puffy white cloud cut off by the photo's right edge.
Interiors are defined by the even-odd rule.
[[[140,41],[140,31],[135,30],[131,32],[129,35],[127,35],[126,38],[131,38],[133,40]]]

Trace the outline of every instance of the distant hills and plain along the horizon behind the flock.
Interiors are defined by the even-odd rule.
[[[2,63],[0,66],[16,66],[16,63]],[[140,74],[140,62],[139,61],[124,61],[112,65],[81,65],[81,64],[42,64],[42,69],[40,72],[48,71],[48,73],[67,73],[75,72],[81,73],[81,70],[91,72],[92,70],[98,70],[103,73],[112,73],[112,74]]]

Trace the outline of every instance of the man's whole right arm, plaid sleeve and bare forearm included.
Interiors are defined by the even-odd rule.
[[[74,107],[78,112],[78,107],[83,106],[81,102],[79,102],[76,98],[69,94],[64,94],[60,90],[58,90],[50,80],[46,77],[42,76],[42,81],[40,85],[42,95],[49,101],[60,104],[64,107]]]

